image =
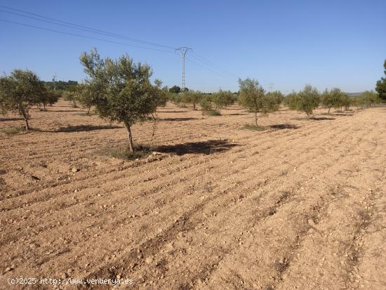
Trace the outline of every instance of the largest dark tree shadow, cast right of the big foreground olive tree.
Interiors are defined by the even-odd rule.
[[[162,153],[183,154],[212,154],[225,152],[237,144],[229,143],[227,140],[208,140],[204,142],[190,142],[176,145],[165,145],[155,147],[154,151]]]

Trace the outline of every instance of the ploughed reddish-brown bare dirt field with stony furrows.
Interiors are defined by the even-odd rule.
[[[386,108],[220,117],[168,104],[126,131],[60,101],[0,133],[0,289],[386,289]],[[1,117],[0,128],[21,126]]]

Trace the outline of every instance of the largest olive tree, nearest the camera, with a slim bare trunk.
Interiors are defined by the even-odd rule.
[[[93,48],[82,53],[81,64],[88,74],[79,89],[93,107],[93,113],[102,119],[123,122],[128,136],[128,149],[134,152],[131,128],[138,121],[145,121],[157,111],[157,106],[166,104],[166,94],[159,82],[153,85],[149,78],[152,69],[147,64],[135,64],[128,55],[113,60],[100,58]]]

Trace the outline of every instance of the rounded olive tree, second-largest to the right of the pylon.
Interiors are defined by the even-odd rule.
[[[307,84],[302,91],[293,95],[288,107],[299,112],[305,112],[310,119],[312,111],[319,106],[319,103],[320,96],[317,88]]]

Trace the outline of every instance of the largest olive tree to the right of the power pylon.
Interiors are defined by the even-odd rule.
[[[265,94],[257,80],[239,79],[239,86],[239,105],[255,114],[255,126],[258,126],[258,112],[267,114],[279,110],[277,99]]]

